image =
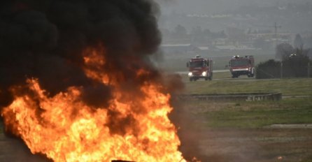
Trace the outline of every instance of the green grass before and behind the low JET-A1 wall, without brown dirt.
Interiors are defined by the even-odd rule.
[[[215,80],[197,82],[183,76],[185,94],[281,92],[290,98],[262,102],[187,102],[190,107],[204,110],[200,115],[209,120],[208,126],[259,128],[270,124],[312,124],[312,78],[253,80],[229,76],[229,73],[215,73]]]

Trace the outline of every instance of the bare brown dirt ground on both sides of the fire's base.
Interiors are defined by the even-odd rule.
[[[183,113],[184,114],[184,113]],[[180,150],[185,157],[212,162],[312,161],[312,128],[204,128],[201,119],[183,119]],[[186,124],[184,124],[186,126]],[[21,140],[0,133],[0,161],[46,162]]]

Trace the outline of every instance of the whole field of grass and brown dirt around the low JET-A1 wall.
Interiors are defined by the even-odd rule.
[[[281,101],[182,101],[192,116],[187,130],[192,128],[200,148],[197,156],[204,161],[312,161],[312,128],[267,127],[312,124],[311,78],[232,79],[226,72],[214,73],[212,81],[190,82],[183,75],[183,82],[185,94],[281,92],[288,96]]]

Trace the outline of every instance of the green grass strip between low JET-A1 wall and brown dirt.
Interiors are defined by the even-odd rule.
[[[311,124],[311,98],[288,98],[283,101],[240,102],[213,105],[201,112],[212,128],[262,128],[271,124]]]

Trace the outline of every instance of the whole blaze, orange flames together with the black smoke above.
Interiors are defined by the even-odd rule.
[[[1,2],[6,131],[53,161],[180,161],[170,91],[148,56],[152,1]],[[185,161],[184,159],[182,161]]]

